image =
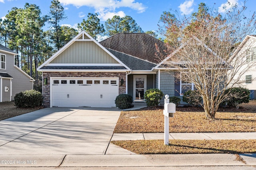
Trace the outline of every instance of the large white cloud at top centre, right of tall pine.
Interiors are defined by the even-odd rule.
[[[135,0],[59,0],[60,3],[65,5],[74,5],[77,8],[80,6],[89,6],[95,9],[95,12],[99,14],[99,18],[107,20],[108,16],[114,16],[120,14],[125,16],[123,11],[116,12],[116,9],[126,7],[136,10],[138,13],[142,13],[146,10],[146,6],[142,3],[135,2]],[[111,17],[112,18],[112,17]]]

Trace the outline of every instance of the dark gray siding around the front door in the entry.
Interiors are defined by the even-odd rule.
[[[127,92],[130,94],[133,98],[133,76],[145,76],[145,74],[129,74],[128,75],[128,89]],[[154,88],[154,74],[146,74],[147,76],[147,82],[146,82],[146,89]]]

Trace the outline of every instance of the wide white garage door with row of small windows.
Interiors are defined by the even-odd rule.
[[[52,107],[115,107],[118,78],[52,78]]]

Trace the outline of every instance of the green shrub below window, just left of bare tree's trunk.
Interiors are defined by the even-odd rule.
[[[193,106],[198,106],[202,102],[202,96],[200,96],[197,90],[188,90],[184,93],[182,101]]]

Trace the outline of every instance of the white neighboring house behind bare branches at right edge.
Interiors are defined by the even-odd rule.
[[[256,99],[256,35],[247,35],[238,47],[235,55],[244,56],[246,63],[240,70],[249,68],[240,78],[240,86],[250,90],[250,99]],[[241,72],[237,73],[240,74]]]

